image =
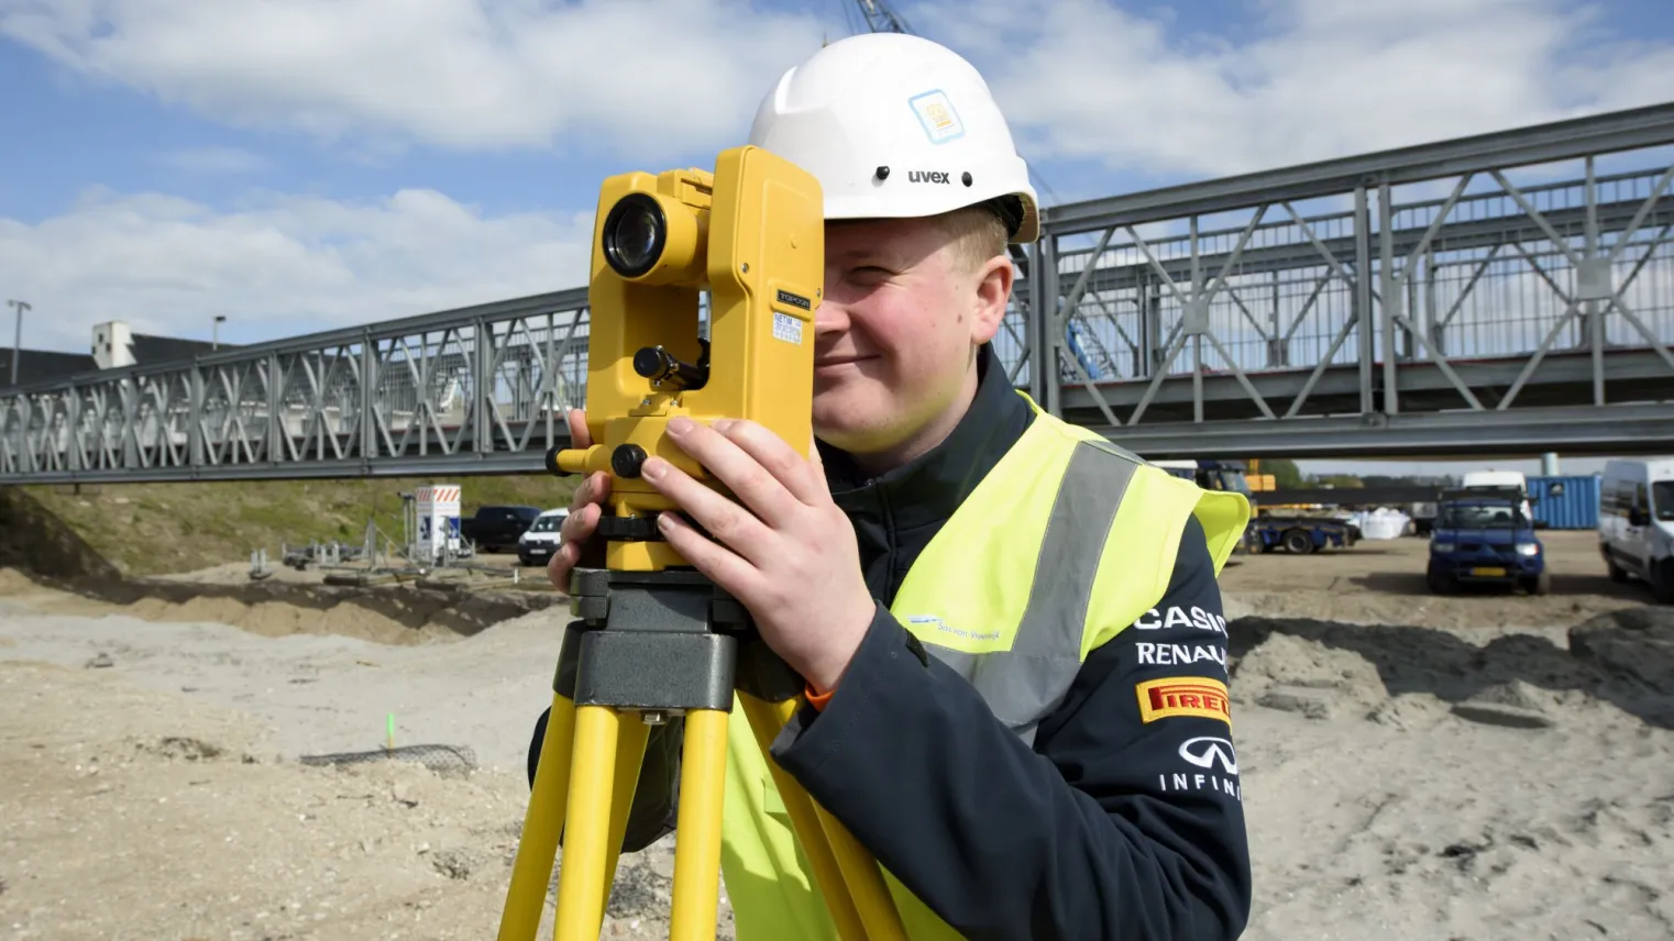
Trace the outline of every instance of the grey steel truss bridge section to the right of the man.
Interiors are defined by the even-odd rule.
[[[1060,382],[1031,388],[1172,455],[1662,404],[1669,144],[1659,105],[1051,208],[1030,301]]]

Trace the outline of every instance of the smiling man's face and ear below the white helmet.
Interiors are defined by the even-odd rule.
[[[889,454],[951,430],[976,382],[974,347],[1004,316],[1004,260],[971,266],[929,219],[825,226],[815,318],[814,430],[854,454]],[[934,444],[931,440],[929,444]]]

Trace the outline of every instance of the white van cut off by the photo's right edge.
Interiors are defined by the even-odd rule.
[[[1659,603],[1674,604],[1674,457],[1604,465],[1599,554],[1610,581],[1639,578]]]

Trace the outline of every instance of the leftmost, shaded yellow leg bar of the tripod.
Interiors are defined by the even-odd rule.
[[[512,884],[501,913],[499,941],[534,941],[546,909],[546,887],[552,879],[557,836],[564,829],[564,805],[569,800],[569,753],[576,733],[576,703],[562,693],[552,695],[546,737],[541,740],[542,762],[536,767],[529,809],[524,814]]]

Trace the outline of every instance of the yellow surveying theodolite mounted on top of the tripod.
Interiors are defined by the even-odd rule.
[[[655,454],[725,487],[666,439],[670,420],[748,419],[807,455],[824,194],[783,157],[732,147],[713,171],[608,177],[593,234],[586,414],[594,444],[549,450],[547,472],[611,476],[611,512],[599,522],[606,568],[681,566],[655,526],[655,514],[673,506],[639,467]],[[703,293],[708,340],[700,337]]]

